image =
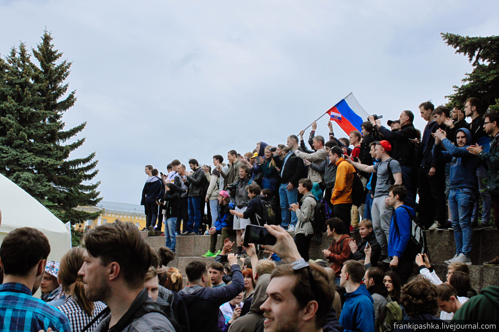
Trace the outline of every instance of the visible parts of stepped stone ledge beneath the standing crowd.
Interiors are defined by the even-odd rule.
[[[479,291],[487,286],[499,286],[499,267],[498,266],[483,266],[483,262],[493,259],[498,253],[498,235],[496,229],[488,229],[481,231],[473,231],[472,244],[472,265],[471,269],[471,284],[472,287]],[[144,232],[147,236],[147,232]],[[357,243],[360,240],[358,232],[351,232]],[[431,255],[431,264],[435,272],[442,281],[446,280],[447,264],[444,263],[454,256],[456,245],[454,242],[454,234],[452,231],[427,231],[428,249]],[[231,237],[230,237],[231,238]],[[165,245],[165,238],[162,236],[147,237],[147,241],[152,247],[159,248]],[[236,238],[231,238],[231,241],[236,241]],[[324,259],[322,249],[329,248],[331,238],[327,234],[322,234],[321,243],[312,241],[310,244],[310,258]],[[218,236],[217,249],[222,243],[222,236]],[[197,236],[177,236],[176,257],[168,266],[178,268],[185,277],[185,267],[193,260],[201,260],[206,263],[213,261],[213,258],[202,258],[210,247],[209,235]],[[233,247],[234,252],[237,251],[236,245]],[[386,267],[388,268],[388,267]],[[416,269],[415,269],[416,270]]]

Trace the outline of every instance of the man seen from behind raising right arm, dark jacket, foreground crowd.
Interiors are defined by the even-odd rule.
[[[186,266],[189,287],[179,292],[186,304],[191,331],[216,332],[219,307],[231,301],[245,289],[237,256],[227,256],[231,265],[232,283],[218,288],[208,286],[208,269],[204,262],[193,261]]]

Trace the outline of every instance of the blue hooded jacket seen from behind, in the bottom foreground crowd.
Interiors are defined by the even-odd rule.
[[[374,331],[374,300],[361,284],[352,293],[345,294],[346,300],[341,309],[340,325],[343,331]]]

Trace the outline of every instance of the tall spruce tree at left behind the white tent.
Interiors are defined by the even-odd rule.
[[[76,91],[65,96],[72,63],[57,63],[63,53],[54,48],[50,32],[45,30],[41,39],[31,49],[39,66],[24,43],[0,58],[0,172],[64,223],[93,220],[99,212],[74,208],[95,206],[102,199],[100,182],[88,182],[98,172],[95,153],[69,159],[85,139],[68,141],[86,122],[65,131],[61,120],[76,102]]]

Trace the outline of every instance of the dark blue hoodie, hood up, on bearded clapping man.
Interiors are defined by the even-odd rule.
[[[466,145],[459,148],[445,138],[442,140],[442,144],[433,146],[433,158],[446,163],[451,162],[451,188],[467,187],[478,191],[477,167],[480,165],[480,161],[477,156],[466,150],[472,142],[471,133],[468,129],[461,128],[456,131],[456,136],[459,132],[466,134]],[[457,142],[456,139],[455,141]],[[442,146],[447,151],[442,151]]]

